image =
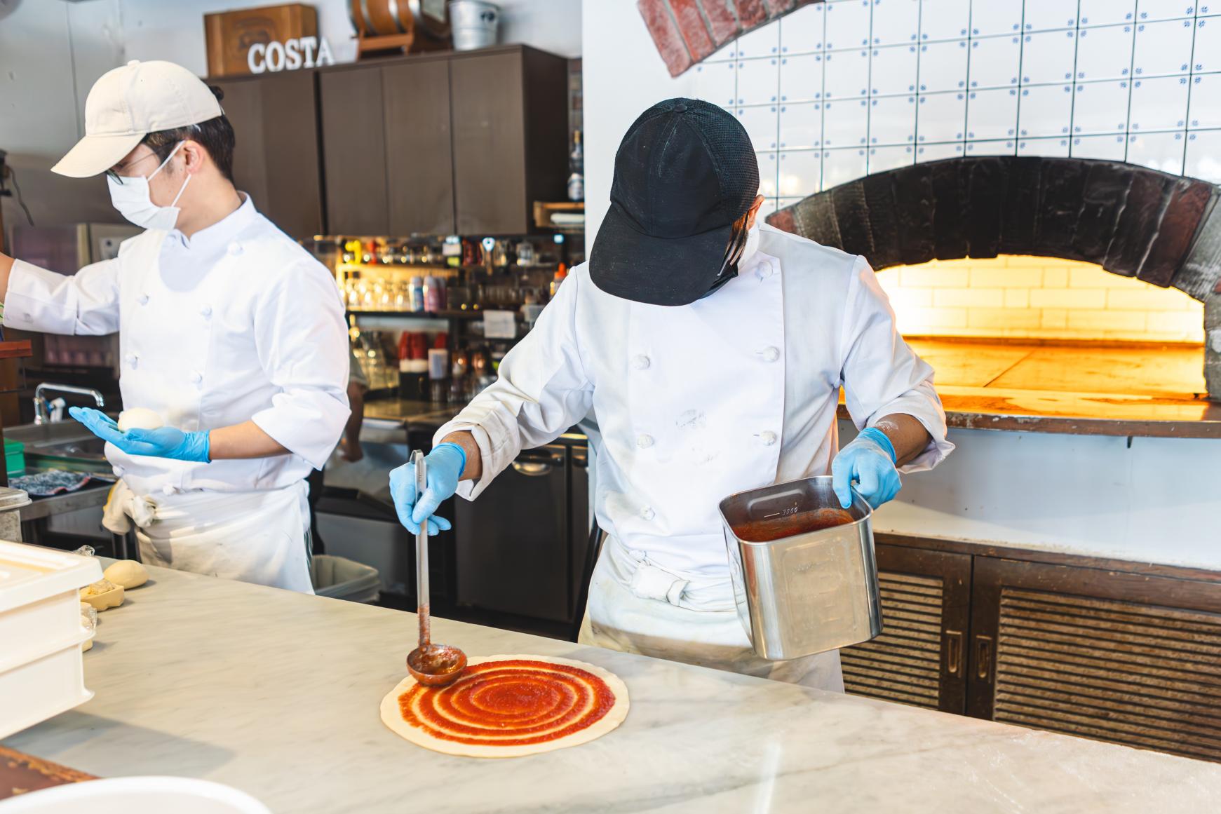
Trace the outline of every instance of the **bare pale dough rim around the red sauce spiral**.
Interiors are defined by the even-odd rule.
[[[403,720],[403,714],[398,707],[398,698],[408,690],[415,687],[415,679],[407,676],[398,682],[389,693],[382,698],[381,703],[381,718],[382,722],[389,727],[392,732],[403,737],[416,746],[422,746],[425,749],[432,749],[433,752],[441,752],[443,754],[455,754],[464,758],[521,758],[529,754],[541,754],[543,752],[554,752],[556,749],[563,749],[570,746],[580,746],[581,743],[589,743],[596,738],[602,737],[607,732],[612,731],[619,724],[628,718],[628,685],[623,682],[619,676],[610,672],[609,670],[603,670],[596,664],[587,664],[585,661],[575,661],[573,659],[560,659],[553,655],[479,655],[466,660],[466,664],[474,666],[476,664],[484,664],[485,661],[543,661],[546,664],[565,664],[573,668],[580,668],[587,672],[592,672],[597,677],[602,679],[610,692],[614,693],[614,705],[607,711],[606,715],[593,721],[592,725],[581,730],[580,732],[574,732],[556,741],[545,741],[542,743],[520,743],[513,746],[485,746],[481,743],[459,743],[458,741],[447,741],[444,738],[433,737],[421,729],[411,726]]]

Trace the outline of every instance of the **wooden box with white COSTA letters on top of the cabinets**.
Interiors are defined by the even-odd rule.
[[[326,40],[317,35],[317,12],[302,2],[204,15],[204,33],[210,77],[335,62]]]

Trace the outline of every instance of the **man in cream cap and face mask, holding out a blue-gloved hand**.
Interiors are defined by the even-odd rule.
[[[106,175],[147,231],[62,276],[0,254],[4,325],[118,331],[126,408],[164,426],[106,439],[120,476],[105,525],[134,522],[145,563],[311,592],[305,476],[348,417],[348,337],[330,272],[233,185],[234,134],[206,84],[128,62],[85,101],[85,135],[53,167]]]

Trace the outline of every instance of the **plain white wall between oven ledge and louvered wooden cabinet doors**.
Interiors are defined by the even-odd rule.
[[[840,421],[840,443],[856,436]],[[1221,441],[951,430],[874,531],[1221,569]]]

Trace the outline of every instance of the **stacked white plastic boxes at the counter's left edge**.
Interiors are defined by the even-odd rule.
[[[92,556],[0,541],[0,738],[93,698],[77,592],[100,578]]]

